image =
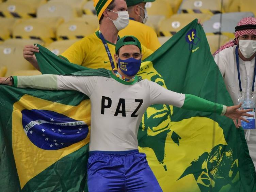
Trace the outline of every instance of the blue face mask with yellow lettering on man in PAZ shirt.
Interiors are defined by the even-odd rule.
[[[138,73],[141,67],[141,59],[129,58],[122,60],[118,58],[119,69],[127,76],[132,77]]]

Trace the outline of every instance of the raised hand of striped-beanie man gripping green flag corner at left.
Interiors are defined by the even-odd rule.
[[[23,57],[40,71],[34,52],[39,52],[39,48],[34,45],[26,45],[23,49]]]

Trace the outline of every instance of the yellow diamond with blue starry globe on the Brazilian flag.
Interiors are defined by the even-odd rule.
[[[64,105],[23,95],[13,105],[12,145],[21,189],[61,158],[89,143],[90,100]]]

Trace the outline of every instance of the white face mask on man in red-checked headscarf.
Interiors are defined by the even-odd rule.
[[[256,41],[239,40],[239,49],[245,58],[250,58],[256,52]]]

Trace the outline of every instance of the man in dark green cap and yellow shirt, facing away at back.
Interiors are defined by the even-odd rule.
[[[149,26],[144,25],[147,21],[146,2],[155,0],[128,0],[126,1],[130,21],[128,26],[119,31],[121,37],[125,35],[133,35],[139,39],[142,45],[146,48],[156,51],[161,44],[158,41],[157,34]]]

